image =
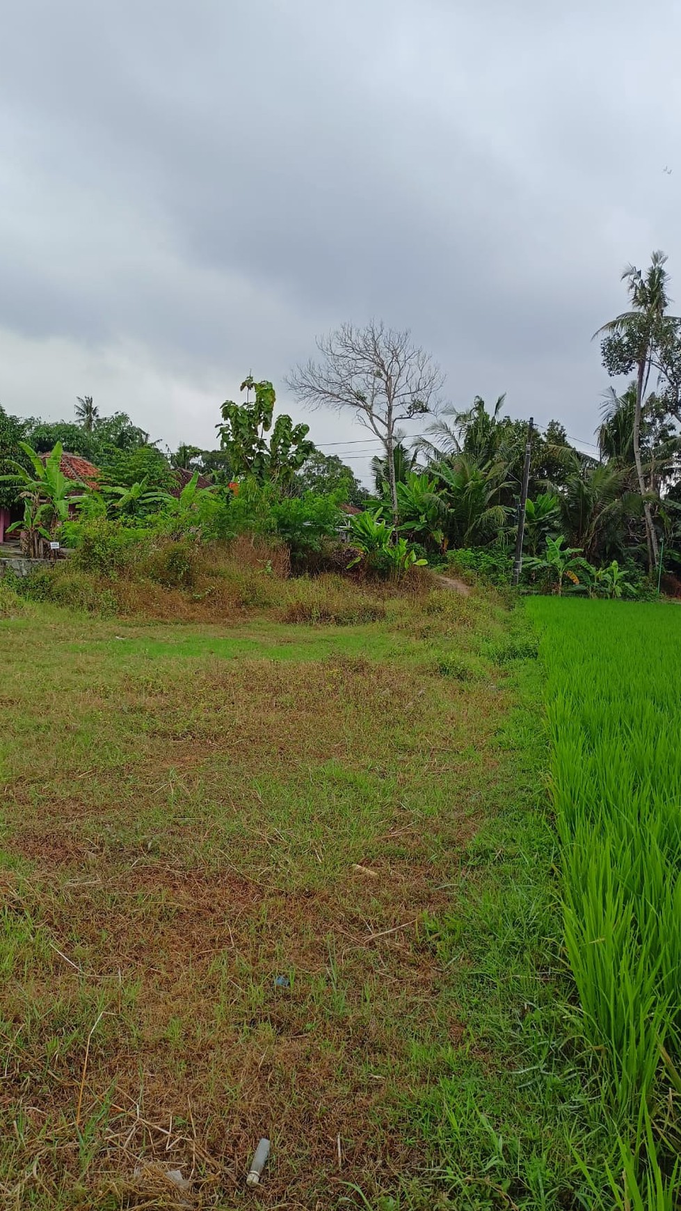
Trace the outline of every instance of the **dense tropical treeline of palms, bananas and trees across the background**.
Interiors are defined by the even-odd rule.
[[[668,314],[664,263],[654,253],[646,274],[628,268],[630,310],[596,333],[606,371],[634,378],[606,394],[593,453],[556,420],[532,435],[526,582],[621,596],[646,575],[654,582],[663,562],[671,572],[681,566],[681,321]],[[307,425],[275,415],[272,384],[249,377],[241,400],[221,406],[213,449],[163,452],[127,414],[100,417],[92,396],[77,398],[73,421],[0,409],[0,506],[23,509],[13,528],[34,551],[57,530],[77,545],[83,526],[105,518],[204,540],[273,534],[306,566],[345,528],[375,569],[402,574],[449,557],[507,579],[527,423],[506,415],[503,396],[494,406],[477,397],[464,409],[444,407],[443,375],[408,332],[345,325],[319,351],[289,386],[313,407],[352,411],[373,432],[383,454],[370,490],[314,446]],[[398,424],[405,420],[421,430],[409,441]],[[46,460],[56,449],[94,464],[97,483],[59,480]],[[363,512],[348,521],[347,506]]]

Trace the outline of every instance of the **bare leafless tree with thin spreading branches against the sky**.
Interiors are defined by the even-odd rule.
[[[382,442],[397,521],[397,426],[400,420],[437,411],[444,374],[431,355],[412,343],[409,331],[386,328],[382,320],[371,320],[365,328],[344,323],[321,337],[317,349],[322,360],[299,366],[289,374],[288,386],[310,408],[351,408]]]

